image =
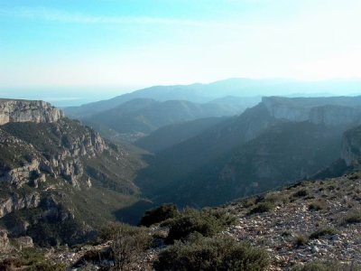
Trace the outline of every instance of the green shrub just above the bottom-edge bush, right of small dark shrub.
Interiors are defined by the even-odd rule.
[[[167,222],[170,227],[167,243],[185,239],[191,233],[199,232],[202,236],[211,237],[232,225],[236,218],[223,210],[188,209],[179,217]]]

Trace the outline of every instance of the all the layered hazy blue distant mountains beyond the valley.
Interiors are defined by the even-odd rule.
[[[330,96],[356,93],[357,80],[303,82],[286,79],[225,79],[210,84],[156,86],[116,98],[64,108],[67,116],[95,127],[112,140],[134,141],[161,126],[202,117],[241,114],[262,96]]]

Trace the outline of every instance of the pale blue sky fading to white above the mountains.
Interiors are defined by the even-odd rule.
[[[0,96],[360,79],[360,13],[359,0],[0,0]]]

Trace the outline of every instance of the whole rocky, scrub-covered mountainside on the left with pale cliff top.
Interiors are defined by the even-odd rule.
[[[38,245],[84,240],[138,198],[122,145],[42,101],[0,102],[0,225]]]

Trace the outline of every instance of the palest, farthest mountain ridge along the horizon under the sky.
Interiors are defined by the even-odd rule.
[[[64,108],[69,117],[88,117],[89,115],[119,106],[134,98],[153,98],[165,100],[189,100],[196,103],[206,103],[216,98],[259,97],[280,95],[287,96],[292,93],[304,93],[313,96],[314,93],[357,93],[361,89],[361,81],[357,80],[329,80],[329,81],[297,81],[291,79],[224,79],[209,84],[190,84],[176,86],[154,86],[139,89],[116,98],[102,100],[82,105],[80,107]],[[255,104],[253,104],[255,105]]]

